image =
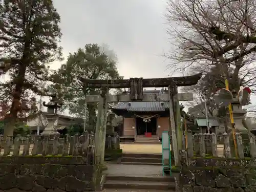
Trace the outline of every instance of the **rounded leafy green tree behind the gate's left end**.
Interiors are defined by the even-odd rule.
[[[67,63],[63,64],[53,74],[56,82],[54,88],[58,98],[62,98],[70,113],[84,118],[84,106],[86,95],[97,95],[99,89],[84,87],[80,77],[88,79],[120,79],[123,78],[117,71],[117,59],[113,54],[101,51],[97,44],[87,44],[84,49],[79,48],[77,52],[70,53]],[[88,129],[95,129],[97,103],[87,103]]]

